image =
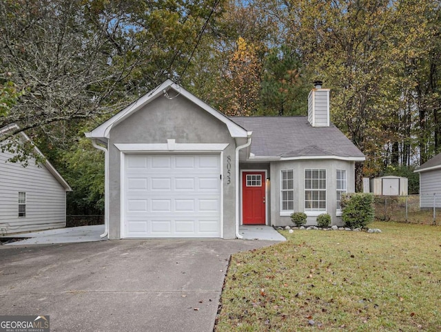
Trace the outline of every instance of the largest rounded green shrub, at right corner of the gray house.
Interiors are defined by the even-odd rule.
[[[345,227],[363,228],[373,221],[373,194],[342,194],[342,220]]]

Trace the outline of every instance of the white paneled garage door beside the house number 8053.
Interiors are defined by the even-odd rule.
[[[127,154],[125,238],[219,238],[220,155]]]

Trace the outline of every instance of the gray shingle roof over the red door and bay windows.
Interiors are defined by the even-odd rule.
[[[253,132],[255,156],[364,157],[340,130],[312,127],[306,116],[232,116],[232,121]]]

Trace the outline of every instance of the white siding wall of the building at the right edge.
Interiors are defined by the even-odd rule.
[[[441,207],[441,169],[420,173],[420,207]]]

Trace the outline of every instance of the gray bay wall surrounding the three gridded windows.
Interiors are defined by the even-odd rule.
[[[291,225],[289,213],[280,211],[280,171],[294,170],[294,212],[309,214],[307,225],[316,225],[316,216],[305,211],[305,169],[326,169],[326,211],[334,225],[340,225],[341,218],[337,212],[337,169],[346,170],[347,192],[354,191],[353,162],[335,159],[287,160],[271,163],[271,223],[276,226]]]

